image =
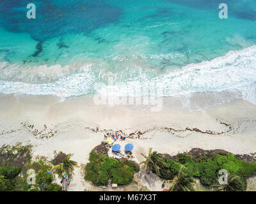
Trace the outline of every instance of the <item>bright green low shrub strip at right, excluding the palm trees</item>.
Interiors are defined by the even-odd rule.
[[[176,161],[176,162],[175,162]],[[177,154],[175,161],[165,158],[165,164],[161,165],[160,177],[171,180],[178,173],[180,164],[186,166],[185,173],[198,177],[205,186],[211,186],[218,182],[218,171],[225,169],[228,173],[234,173],[241,177],[243,189],[246,189],[246,177],[256,174],[256,163],[244,162],[230,153],[212,154],[211,159],[204,155],[199,158],[186,154]]]

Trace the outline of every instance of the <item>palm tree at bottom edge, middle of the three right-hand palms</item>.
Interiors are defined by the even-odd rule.
[[[167,182],[172,182],[172,185],[168,191],[195,191],[193,185],[195,180],[193,177],[186,175],[184,173],[185,166],[180,166],[178,175],[174,177],[173,180],[168,180]]]

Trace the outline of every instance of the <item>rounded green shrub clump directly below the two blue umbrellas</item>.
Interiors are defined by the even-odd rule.
[[[113,184],[130,184],[134,178],[134,171],[140,170],[140,166],[132,161],[118,161],[104,154],[95,154],[94,149],[90,152],[89,161],[84,168],[84,179],[97,186],[108,184],[109,179]]]

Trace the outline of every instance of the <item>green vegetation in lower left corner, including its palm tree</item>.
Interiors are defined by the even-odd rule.
[[[60,156],[52,162],[44,157],[32,160],[31,145],[3,145],[0,148],[0,191],[61,191],[60,185],[52,183],[53,173],[47,171],[58,169],[61,170],[60,173],[73,172],[77,164],[70,160],[71,156],[72,154],[64,154],[61,162]],[[30,169],[35,170],[35,184],[27,182],[27,172]]]

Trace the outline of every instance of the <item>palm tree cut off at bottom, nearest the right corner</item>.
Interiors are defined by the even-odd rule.
[[[211,187],[218,187],[216,191],[244,191],[243,180],[232,173],[227,173],[227,184],[212,185]]]

